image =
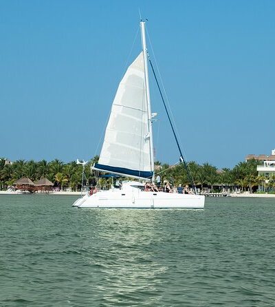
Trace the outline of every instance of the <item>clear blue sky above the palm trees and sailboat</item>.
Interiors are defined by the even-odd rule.
[[[131,52],[139,8],[187,160],[221,168],[270,154],[275,1],[2,0],[0,156],[100,153],[118,83],[140,51],[138,34]],[[172,164],[179,154],[154,87],[156,159]]]

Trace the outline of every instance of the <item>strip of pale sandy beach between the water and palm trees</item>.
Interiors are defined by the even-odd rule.
[[[86,192],[83,192],[85,195]],[[18,193],[17,191],[10,192],[10,191],[0,191],[0,195],[81,195],[81,191],[77,192],[66,192],[66,191],[59,191],[59,192],[49,192],[49,193]],[[226,197],[232,198],[275,198],[275,194],[250,194],[250,193],[230,193]]]

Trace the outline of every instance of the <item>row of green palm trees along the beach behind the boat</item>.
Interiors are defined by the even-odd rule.
[[[85,166],[85,181],[87,185],[98,175],[91,171],[91,165],[98,161],[98,156],[92,158]],[[223,168],[217,169],[209,163],[203,165],[197,162],[188,162],[188,169],[192,176],[188,176],[188,172],[184,165],[179,164],[173,167],[161,162],[155,162],[155,173],[159,173],[164,180],[168,180],[171,184],[177,186],[184,184],[192,186],[192,181],[196,187],[201,189],[210,189],[210,191],[221,191],[223,188],[241,189],[241,191],[256,191],[260,187],[261,191],[275,190],[275,176],[266,180],[265,176],[258,176],[256,171],[256,160],[248,160],[248,162],[239,162],[232,169]],[[17,160],[12,164],[6,164],[5,159],[0,159],[0,189],[7,189],[14,182],[22,177],[28,177],[33,182],[41,178],[47,178],[52,181],[55,187],[60,189],[70,188],[72,191],[81,189],[83,175],[83,166],[78,165],[75,161],[65,163],[55,159],[50,162],[41,160],[25,161]],[[100,178],[99,184],[101,187],[109,187],[111,178]]]

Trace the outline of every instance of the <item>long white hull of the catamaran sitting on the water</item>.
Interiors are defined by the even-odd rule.
[[[113,189],[85,195],[73,204],[78,208],[203,209],[205,196],[133,189]]]

